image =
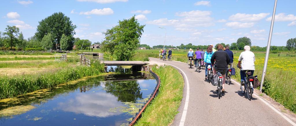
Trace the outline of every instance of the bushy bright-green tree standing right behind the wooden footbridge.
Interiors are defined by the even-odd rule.
[[[118,21],[118,25],[107,29],[103,50],[115,54],[116,60],[130,60],[140,44],[144,26],[140,25],[135,16]]]

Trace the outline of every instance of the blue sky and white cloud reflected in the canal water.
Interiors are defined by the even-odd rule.
[[[100,86],[88,88],[80,92],[80,88],[58,94],[47,102],[33,104],[36,109],[13,118],[1,118],[0,125],[122,125],[134,115],[126,112],[110,111],[110,108],[126,106],[118,101],[112,93],[106,93],[106,82]],[[156,85],[156,80],[137,80],[141,89],[142,98],[150,95]],[[87,85],[85,85],[87,86]],[[117,94],[118,95],[118,94]],[[140,100],[138,98],[138,100]],[[39,120],[33,120],[38,118]]]

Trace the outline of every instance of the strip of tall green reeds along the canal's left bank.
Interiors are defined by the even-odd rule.
[[[99,62],[91,67],[75,66],[65,67],[55,72],[32,74],[22,76],[0,77],[0,99],[15,97],[39,89],[51,88],[58,84],[77,80],[82,77],[99,75],[104,71],[104,65]]]

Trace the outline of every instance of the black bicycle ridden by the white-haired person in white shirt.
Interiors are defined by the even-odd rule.
[[[240,89],[242,90],[242,94],[244,94],[247,91],[248,100],[252,99],[252,94],[254,91],[254,88],[253,88],[254,76],[251,76],[251,74],[252,74],[251,71],[247,70],[247,76],[248,76],[248,77],[246,77],[247,82],[245,82],[244,85],[241,82],[241,87],[240,87]]]

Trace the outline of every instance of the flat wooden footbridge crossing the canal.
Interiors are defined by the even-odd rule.
[[[149,66],[147,66],[148,62],[143,61],[101,61],[101,63],[105,64],[105,71],[107,72],[106,66],[133,66],[133,71],[149,71]]]

